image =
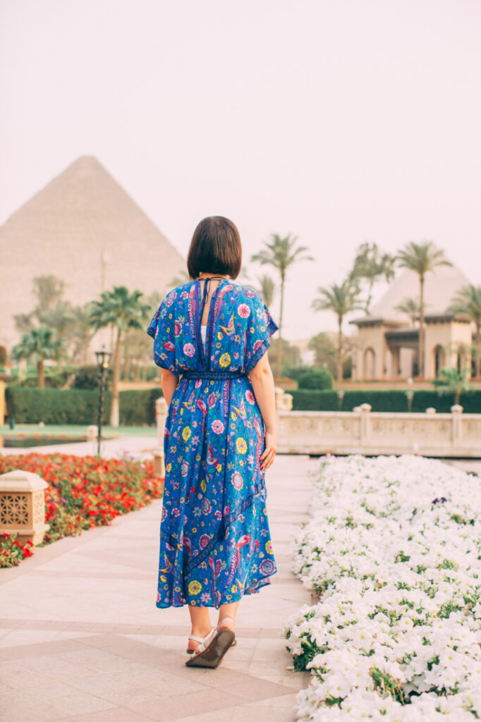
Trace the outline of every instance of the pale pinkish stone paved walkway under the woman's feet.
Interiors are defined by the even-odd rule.
[[[126,440],[113,440],[106,455],[118,453],[119,442],[132,451]],[[142,440],[137,444],[136,455],[146,451]],[[83,446],[92,453],[76,446],[57,450],[81,453]],[[315,466],[308,456],[278,455],[267,471],[278,571],[271,586],[244,596],[238,643],[216,670],[184,664],[187,608],[155,607],[161,500],[0,570],[2,716],[9,722],[293,722],[295,695],[307,687],[309,673],[289,669],[280,628],[311,595],[289,570],[287,545],[308,518],[307,471]],[[210,611],[215,623],[217,612]]]

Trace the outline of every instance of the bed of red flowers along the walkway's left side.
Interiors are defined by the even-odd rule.
[[[50,529],[39,547],[63,536],[76,536],[92,526],[109,526],[126,514],[162,497],[164,480],[154,475],[153,461],[103,459],[55,453],[0,455],[0,474],[22,469],[38,474],[45,489],[45,521]],[[30,557],[35,547],[22,546],[17,534],[0,536],[0,567]]]

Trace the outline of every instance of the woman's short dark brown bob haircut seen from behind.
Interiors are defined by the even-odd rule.
[[[235,224],[223,216],[208,216],[194,230],[188,249],[187,269],[191,278],[201,273],[228,275],[241,273],[241,236]]]

